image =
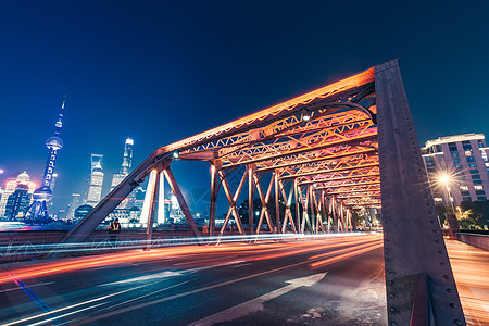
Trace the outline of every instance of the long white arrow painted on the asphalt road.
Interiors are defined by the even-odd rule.
[[[261,297],[254,298],[252,300],[246,301],[241,304],[223,310],[222,312],[210,315],[200,321],[193,322],[193,323],[189,324],[189,326],[213,325],[216,323],[233,321],[233,319],[242,317],[244,315],[248,315],[249,313],[252,313],[252,312],[261,311],[261,310],[263,310],[263,303],[265,303],[266,301],[269,301],[272,299],[280,297],[280,296],[283,296],[287,292],[290,292],[297,288],[310,287],[312,285],[315,285],[316,283],[322,280],[326,276],[326,274],[327,273],[319,273],[319,274],[314,274],[311,276],[290,279],[290,280],[286,281],[289,284],[288,286],[276,289],[272,292],[268,292]]]

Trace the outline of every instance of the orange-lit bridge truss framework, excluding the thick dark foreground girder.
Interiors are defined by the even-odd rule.
[[[164,177],[192,233],[201,236],[171,170],[172,161],[191,160],[211,163],[211,236],[216,235],[220,190],[229,203],[221,234],[231,220],[240,234],[351,230],[353,210],[380,208],[374,79],[371,68],[160,148],[77,227],[93,224],[89,220],[97,224],[103,221],[118,204],[117,198],[125,198],[150,175],[152,210],[148,221],[153,221],[154,202],[159,200],[155,185]],[[229,175],[236,178],[237,173],[240,181],[230,185]],[[237,206],[243,191],[248,191],[247,227]],[[261,202],[258,211],[253,198]]]

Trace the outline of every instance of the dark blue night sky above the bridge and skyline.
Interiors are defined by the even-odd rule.
[[[340,2],[2,1],[0,178],[40,180],[64,92],[59,200],[83,191],[92,152],[110,184],[126,137],[137,164],[392,58],[421,143],[489,136],[486,1]]]

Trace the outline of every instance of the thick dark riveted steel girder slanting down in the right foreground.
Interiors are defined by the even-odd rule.
[[[410,325],[424,274],[435,324],[465,325],[397,60],[375,66],[375,93],[389,325]]]

